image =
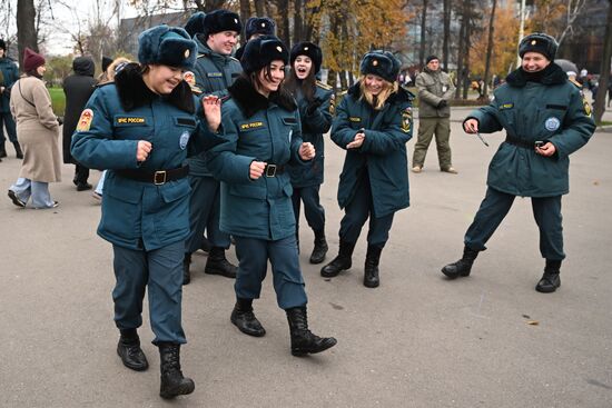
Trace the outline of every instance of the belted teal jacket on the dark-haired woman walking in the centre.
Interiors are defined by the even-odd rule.
[[[223,106],[225,143],[207,157],[215,178],[221,181],[221,231],[247,238],[279,240],[295,235],[292,182],[284,169],[302,162],[299,113],[288,94],[267,99],[245,78],[229,88],[231,99]],[[253,161],[278,166],[275,177],[249,178]]]

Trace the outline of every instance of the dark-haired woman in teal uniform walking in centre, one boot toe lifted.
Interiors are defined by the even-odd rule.
[[[292,354],[305,356],[336,345],[308,329],[306,291],[299,268],[292,208],[289,162],[315,157],[303,142],[294,98],[283,89],[289,52],[276,37],[249,41],[244,72],[228,88],[223,128],[226,141],[208,153],[208,166],[221,181],[220,228],[236,240],[236,306],[230,320],[240,331],[260,337],[266,330],[253,314],[268,260],[278,306],[287,314]]]

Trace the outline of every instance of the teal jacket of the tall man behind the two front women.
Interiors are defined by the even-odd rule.
[[[203,37],[203,34],[194,37],[198,44],[198,59],[194,68],[195,89],[204,94],[213,93],[224,98],[227,96],[227,88],[243,72],[243,66],[231,56],[224,56],[210,50]],[[199,177],[210,176],[204,155],[189,158],[189,173]]]

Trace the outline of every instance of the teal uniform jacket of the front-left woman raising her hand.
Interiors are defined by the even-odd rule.
[[[109,170],[98,235],[120,247],[148,251],[185,240],[189,233],[188,178],[156,186],[120,177],[115,170],[180,168],[188,148],[201,151],[207,147],[207,136],[215,139],[186,82],[169,97],[160,97],[145,86],[138,68],[127,67],[115,83],[98,88],[81,113],[71,148],[83,166]],[[139,140],[152,145],[141,163],[136,160]]]

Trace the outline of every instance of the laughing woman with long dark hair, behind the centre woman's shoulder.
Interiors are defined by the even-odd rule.
[[[328,249],[325,240],[325,210],[320,206],[318,196],[323,183],[323,133],[326,133],[332,127],[334,92],[332,87],[316,80],[323,61],[318,46],[312,42],[295,44],[292,49],[290,61],[292,70],[286,88],[297,101],[302,120],[302,139],[313,143],[316,151],[315,158],[307,165],[289,166],[294,188],[292,200],[296,237],[299,247],[299,209],[304,201],[306,221],[315,232],[315,247],[310,255],[310,263],[320,263]]]

